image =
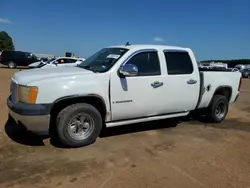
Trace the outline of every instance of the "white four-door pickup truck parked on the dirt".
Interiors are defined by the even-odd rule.
[[[219,123],[239,95],[241,74],[199,70],[189,48],[123,45],[104,48],[78,67],[25,70],[11,80],[8,107],[16,122],[79,147],[93,143],[103,127],[196,110]]]

